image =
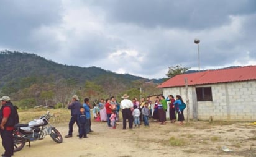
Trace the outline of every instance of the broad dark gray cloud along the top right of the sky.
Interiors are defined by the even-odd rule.
[[[229,23],[229,15],[255,12],[255,1],[104,1],[112,22],[134,23],[142,27],[200,30]],[[99,5],[97,3],[97,5]]]

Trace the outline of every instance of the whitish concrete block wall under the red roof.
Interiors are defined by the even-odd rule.
[[[232,121],[256,121],[256,80],[245,82],[204,85],[211,87],[213,101],[198,101],[198,119],[223,119]],[[198,86],[201,87],[201,86]],[[188,87],[190,118],[193,113],[192,91]],[[163,95],[181,95],[186,101],[185,87],[164,88]],[[187,108],[186,108],[187,109]],[[186,117],[186,109],[184,111]]]

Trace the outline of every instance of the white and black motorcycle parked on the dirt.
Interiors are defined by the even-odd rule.
[[[16,124],[14,126],[14,152],[22,150],[26,142],[42,140],[46,135],[50,135],[53,141],[62,143],[63,138],[60,132],[50,125],[49,119],[52,117],[50,112],[41,116],[39,119],[30,121],[29,124]]]

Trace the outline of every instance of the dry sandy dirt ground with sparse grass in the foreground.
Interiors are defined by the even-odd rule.
[[[63,137],[68,132],[68,124],[55,126]],[[63,143],[47,136],[14,156],[256,156],[256,125],[250,123],[197,121],[180,126],[150,121],[150,127],[122,130],[122,122],[117,129],[107,127],[106,122],[93,122],[92,129],[89,138],[80,140],[74,125],[73,137],[63,138]],[[232,151],[224,152],[223,146]]]

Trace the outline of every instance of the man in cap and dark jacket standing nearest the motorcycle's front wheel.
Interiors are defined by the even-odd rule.
[[[71,119],[70,119],[70,123],[68,124],[68,127],[69,127],[68,135],[65,135],[65,138],[72,137],[73,125],[75,124],[75,122],[76,122],[76,125],[78,126],[77,117],[78,117],[78,114],[80,113],[80,107],[81,106],[82,105],[79,102],[78,96],[73,95],[72,96],[72,103],[68,104],[68,109],[71,110]]]

